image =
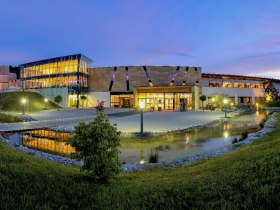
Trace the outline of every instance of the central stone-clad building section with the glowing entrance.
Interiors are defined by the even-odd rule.
[[[92,68],[89,96],[93,104],[147,109],[198,109],[201,68],[186,66],[119,66]]]

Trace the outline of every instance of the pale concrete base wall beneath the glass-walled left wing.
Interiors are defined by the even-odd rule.
[[[62,102],[59,104],[60,106],[67,108],[68,105],[68,88],[40,88],[40,89],[27,89],[26,91],[37,92],[41,94],[43,97],[48,98],[49,100],[54,101],[54,97],[57,95],[62,96]]]

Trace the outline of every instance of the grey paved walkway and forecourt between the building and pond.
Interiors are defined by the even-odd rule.
[[[68,111],[45,111],[34,117],[38,121],[21,122],[21,123],[0,123],[0,132],[3,131],[20,131],[30,129],[48,128],[59,126],[60,128],[73,129],[80,122],[88,122],[96,116],[93,110],[73,110]],[[108,110],[107,114],[118,113],[119,110]],[[122,109],[122,112],[131,110]],[[53,117],[50,119],[48,113]],[[92,112],[92,114],[89,114]],[[66,115],[64,117],[63,115]],[[74,117],[75,116],[75,117]],[[122,116],[122,115],[120,115]],[[188,112],[146,112],[144,113],[144,130],[149,132],[165,132],[178,129],[186,129],[195,125],[202,125],[213,120],[220,119],[224,116],[223,112],[216,111],[188,111]],[[39,120],[47,119],[47,120]],[[112,124],[117,124],[117,129],[123,133],[139,132],[140,114],[126,115],[123,117],[110,117]]]

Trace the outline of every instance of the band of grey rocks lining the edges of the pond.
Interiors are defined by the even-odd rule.
[[[228,114],[229,118],[233,118],[233,117],[237,117],[241,114],[244,114],[248,111],[243,110],[243,111],[239,111],[239,112],[231,112]],[[203,125],[195,125],[192,126],[190,128],[187,129],[178,129],[175,130],[173,132],[181,132],[181,131],[186,131],[186,130],[191,130],[194,128],[202,128],[202,127],[207,127],[210,125],[214,125],[214,124],[218,124],[218,123],[222,123],[224,121],[226,121],[227,119],[219,119],[219,120],[214,120],[210,123],[207,124],[203,124]],[[260,137],[266,135],[267,133],[271,132],[274,128],[274,126],[276,125],[276,121],[277,121],[277,113],[273,113],[272,115],[269,116],[269,119],[265,122],[263,129],[259,130],[256,133],[252,133],[248,135],[248,138],[244,139],[243,141],[240,141],[236,144],[232,144],[232,145],[228,145],[222,149],[219,149],[217,151],[211,152],[211,153],[206,153],[206,154],[202,154],[202,155],[197,155],[197,156],[193,156],[193,157],[189,157],[187,159],[184,160],[176,160],[176,161],[169,161],[169,162],[161,162],[161,163],[144,163],[144,164],[140,164],[140,163],[131,163],[131,164],[123,164],[122,168],[124,172],[132,172],[132,171],[138,171],[138,170],[144,170],[144,169],[148,169],[151,167],[162,167],[162,166],[172,166],[172,167],[177,167],[180,165],[185,165],[185,164],[191,164],[195,161],[198,160],[202,160],[202,159],[207,159],[207,158],[212,158],[212,157],[216,157],[219,155],[223,155],[223,154],[227,154],[229,152],[232,152],[238,148],[240,148],[241,145],[244,144],[249,144],[257,139],[259,139]],[[56,128],[57,131],[61,131],[59,129],[59,127]],[[67,130],[63,130],[63,131],[67,131]],[[162,133],[161,133],[162,134]],[[43,158],[43,159],[47,159],[56,163],[61,163],[63,165],[75,165],[75,166],[82,166],[83,162],[82,161],[77,161],[74,159],[70,159],[67,157],[62,157],[59,155],[54,155],[54,154],[49,154],[49,153],[45,153],[45,152],[41,152],[41,151],[37,151],[37,150],[33,150],[30,148],[27,148],[25,146],[22,145],[17,145],[14,144],[12,142],[10,142],[9,140],[5,139],[3,136],[0,135],[0,140],[9,144],[11,147],[14,147],[15,149],[18,149],[20,151],[23,151],[25,153]]]

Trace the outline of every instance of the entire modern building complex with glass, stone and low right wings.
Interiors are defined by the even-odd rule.
[[[53,99],[63,97],[63,106],[81,107],[81,95],[93,107],[139,107],[150,110],[199,109],[200,95],[228,96],[232,103],[252,105],[265,98],[264,88],[280,80],[202,73],[189,66],[115,66],[90,68],[82,54],[51,58],[20,65],[23,90],[37,91]]]

